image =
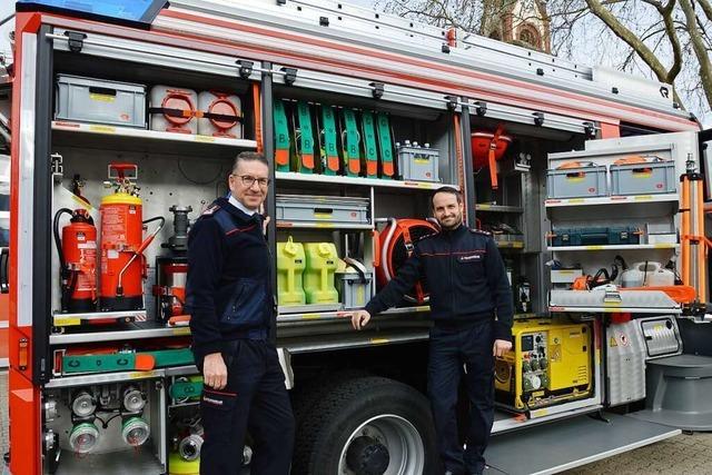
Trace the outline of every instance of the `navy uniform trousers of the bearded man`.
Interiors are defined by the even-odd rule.
[[[446,471],[479,474],[494,422],[493,323],[481,321],[457,329],[437,325],[431,330],[428,395],[438,451]],[[463,366],[465,372],[463,373]],[[458,441],[457,389],[464,377],[469,398],[466,449]]]

